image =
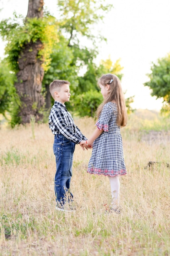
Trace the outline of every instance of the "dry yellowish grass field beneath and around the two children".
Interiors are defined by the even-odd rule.
[[[87,137],[94,130],[94,119],[74,120]],[[80,207],[62,213],[48,124],[0,129],[0,255],[170,255],[170,119],[138,110],[121,131],[122,212],[105,214],[109,179],[87,173],[91,150],[76,145],[71,191]]]

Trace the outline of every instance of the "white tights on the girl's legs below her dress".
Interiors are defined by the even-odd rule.
[[[119,207],[120,181],[118,175],[108,176],[111,187],[112,207]]]

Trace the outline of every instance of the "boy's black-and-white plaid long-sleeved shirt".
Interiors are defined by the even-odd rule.
[[[53,134],[62,134],[75,144],[87,139],[74,124],[72,115],[68,112],[65,105],[58,101],[54,101],[50,111],[49,127]]]

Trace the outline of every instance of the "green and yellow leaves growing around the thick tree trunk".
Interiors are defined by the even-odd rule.
[[[20,58],[20,54],[24,47],[28,43],[36,43],[38,41],[42,43],[42,47],[38,52],[37,58],[42,59],[42,67],[44,70],[47,70],[50,63],[50,54],[52,53],[53,45],[59,40],[57,31],[58,25],[56,19],[50,15],[39,19],[26,18],[24,20],[22,16],[17,17],[14,14],[13,19],[10,18],[8,20],[2,20],[0,22],[0,34],[3,40],[7,41],[5,54],[7,55],[6,62],[9,66],[9,70],[16,74],[19,71],[18,58]],[[4,102],[3,106],[5,110],[10,112],[10,124],[14,127],[16,124],[21,123],[21,118],[18,114],[20,111],[21,101],[14,88],[14,83],[12,87],[15,92],[11,94],[13,95],[14,100],[10,102],[8,99],[9,97],[4,98],[4,102],[10,106],[10,110]]]

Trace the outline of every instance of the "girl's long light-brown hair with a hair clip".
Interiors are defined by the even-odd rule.
[[[126,126],[127,123],[127,112],[126,112],[126,104],[124,99],[124,94],[122,91],[122,86],[118,76],[113,74],[105,74],[102,75],[98,80],[98,85],[106,86],[107,84],[110,85],[110,90],[108,91],[107,97],[104,101],[98,106],[96,111],[96,116],[99,117],[100,113],[102,112],[103,106],[109,102],[113,101],[116,103],[118,108],[118,117],[117,117],[117,124],[118,126]]]

